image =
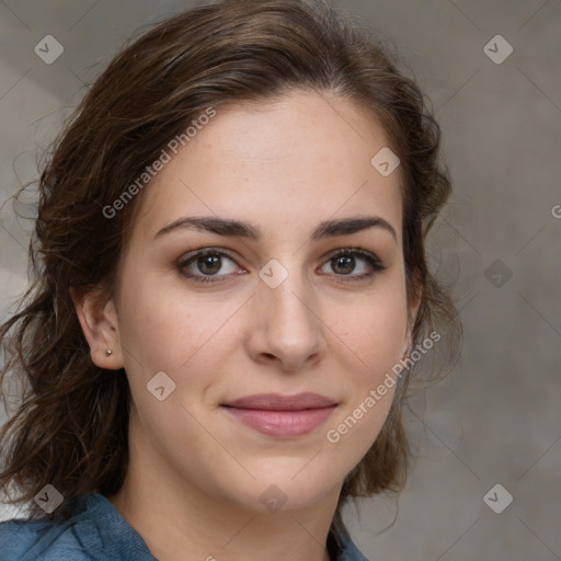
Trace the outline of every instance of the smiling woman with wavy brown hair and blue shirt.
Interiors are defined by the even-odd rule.
[[[124,48],[42,172],[0,332],[30,388],[0,559],[366,559],[341,510],[403,485],[410,378],[457,355],[424,257],[438,145],[319,2],[201,5]]]

